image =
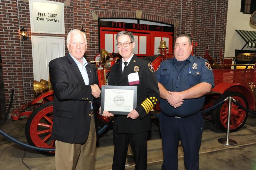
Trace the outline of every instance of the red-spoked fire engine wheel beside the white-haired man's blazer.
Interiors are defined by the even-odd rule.
[[[55,148],[54,140],[51,140],[53,125],[53,101],[38,106],[29,116],[26,123],[25,134],[30,145],[42,148]],[[54,152],[40,153],[54,156]]]

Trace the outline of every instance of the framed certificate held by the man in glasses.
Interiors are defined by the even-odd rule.
[[[128,115],[137,104],[136,86],[102,86],[101,111]]]

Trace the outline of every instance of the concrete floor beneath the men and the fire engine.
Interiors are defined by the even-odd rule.
[[[7,120],[0,128],[18,140],[27,142],[25,137],[26,121],[26,119]],[[157,118],[154,118],[148,139],[148,170],[161,169],[163,163],[162,141],[157,125]],[[230,134],[230,139],[235,140],[238,143],[237,146],[225,146],[218,142],[219,138],[225,137],[226,134],[216,129],[212,122],[204,120],[199,168],[204,170],[256,170],[256,116],[249,114],[244,127]],[[95,170],[111,169],[113,151],[113,131],[110,127],[99,139],[96,149]],[[181,146],[179,147],[178,156],[179,169],[185,169]],[[54,157],[45,156],[28,149],[25,151],[24,148],[15,143],[10,143],[3,136],[0,136],[0,169],[28,169],[22,163],[22,158],[30,169],[55,169]],[[126,167],[126,170],[131,169],[134,169],[134,166]]]

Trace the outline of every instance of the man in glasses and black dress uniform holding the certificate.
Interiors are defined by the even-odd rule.
[[[131,32],[121,31],[116,35],[118,52],[122,60],[112,66],[108,85],[137,86],[137,106],[127,116],[115,115],[114,118],[114,158],[113,170],[124,170],[128,144],[131,144],[135,158],[135,169],[147,169],[147,137],[151,128],[148,114],[159,100],[154,68],[147,60],[133,54],[134,36]],[[137,74],[137,75],[136,75]],[[129,82],[133,75],[137,79]],[[103,116],[114,116],[103,111]]]

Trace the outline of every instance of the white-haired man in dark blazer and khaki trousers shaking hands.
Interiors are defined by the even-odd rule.
[[[69,53],[49,63],[54,90],[52,139],[55,140],[55,166],[63,169],[94,169],[96,111],[100,89],[94,66],[87,63],[85,35],[71,30],[67,36]]]

